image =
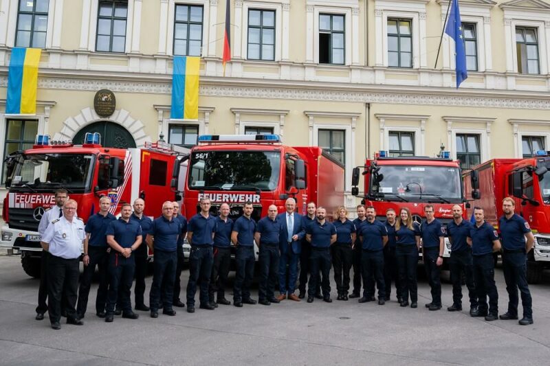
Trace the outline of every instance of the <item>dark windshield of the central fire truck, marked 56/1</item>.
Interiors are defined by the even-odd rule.
[[[279,181],[281,152],[197,151],[190,161],[191,190],[274,190]]]

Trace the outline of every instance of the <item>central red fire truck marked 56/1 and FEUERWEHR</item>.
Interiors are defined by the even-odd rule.
[[[317,146],[285,146],[278,135],[201,135],[182,186],[187,218],[200,211],[202,197],[210,198],[214,215],[228,203],[232,219],[241,216],[246,201],[254,205],[256,221],[270,205],[284,212],[290,197],[299,214],[307,214],[314,201],[332,217],[344,203],[344,165]],[[257,247],[254,252],[257,259]]]

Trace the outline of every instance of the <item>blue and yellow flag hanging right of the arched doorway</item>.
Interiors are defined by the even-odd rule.
[[[171,119],[199,119],[200,57],[174,56]]]

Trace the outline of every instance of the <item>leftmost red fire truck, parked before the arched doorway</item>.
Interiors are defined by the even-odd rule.
[[[56,190],[69,192],[85,222],[98,211],[100,196],[111,198],[111,214],[117,215],[122,203],[140,197],[146,201],[144,215],[159,216],[163,201],[177,199],[180,167],[174,165],[188,152],[162,142],[144,148],[104,148],[98,133],[86,134],[82,145],[37,136],[31,149],[6,159],[8,194],[0,247],[21,253],[25,273],[39,277],[42,248],[37,230],[44,211],[55,205]]]

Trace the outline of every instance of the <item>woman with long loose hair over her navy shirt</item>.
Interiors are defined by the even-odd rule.
[[[395,222],[395,237],[397,238],[397,267],[399,268],[399,282],[401,284],[401,306],[417,308],[417,264],[418,249],[420,247],[420,227],[412,222],[410,210],[403,207],[399,210],[399,218]]]

